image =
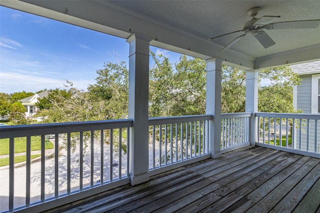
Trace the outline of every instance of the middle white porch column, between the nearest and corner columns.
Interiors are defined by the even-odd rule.
[[[208,138],[211,158],[221,156],[221,69],[222,60],[206,60],[206,97],[205,113],[212,114],[209,120]]]

